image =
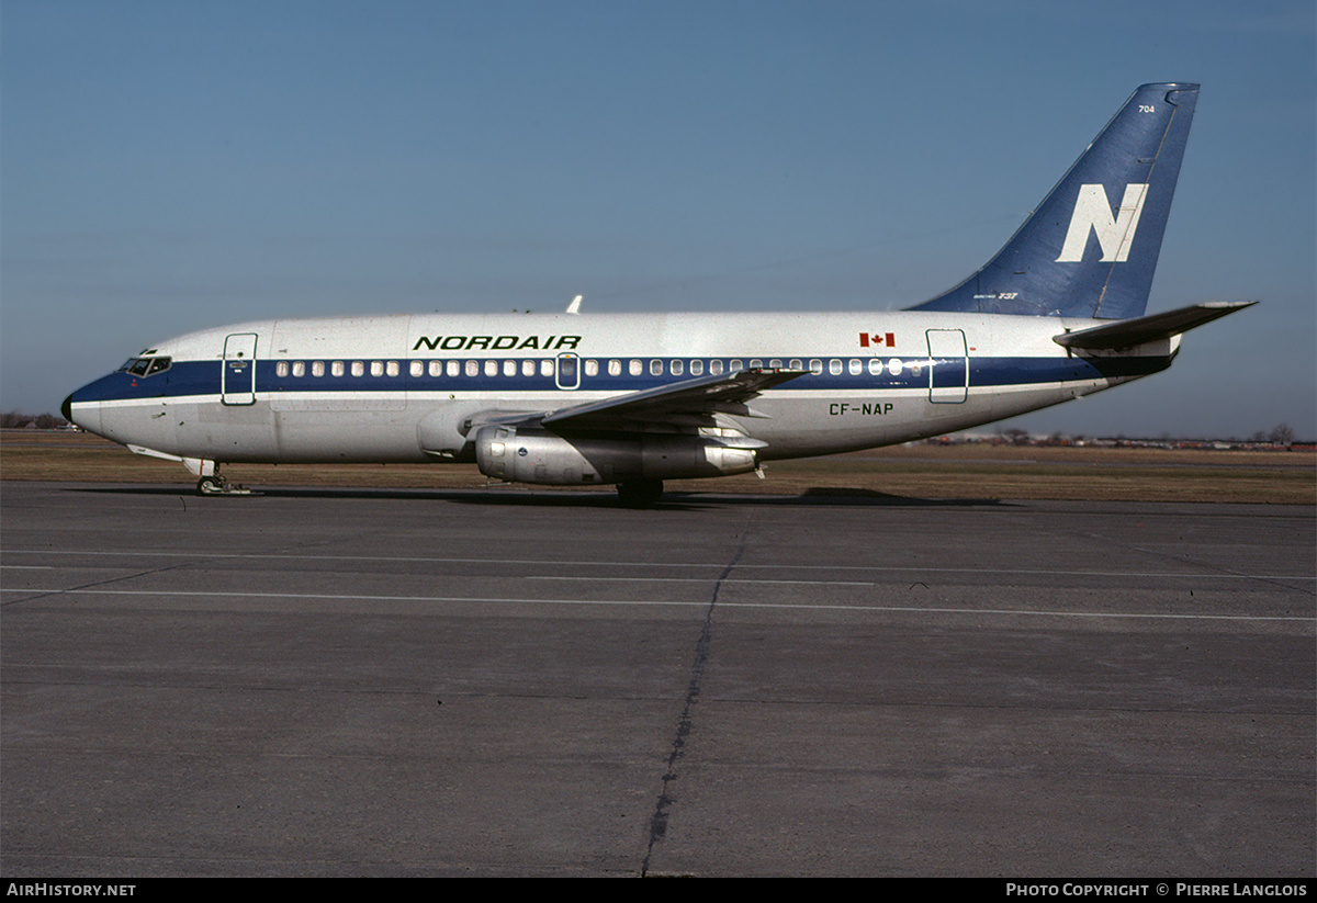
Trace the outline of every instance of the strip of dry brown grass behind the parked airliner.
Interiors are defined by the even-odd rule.
[[[769,478],[669,480],[685,492],[836,494],[926,499],[1317,503],[1317,454],[1163,449],[911,445],[773,462]],[[230,465],[248,486],[475,488],[474,465]],[[0,479],[176,483],[182,465],[132,454],[88,433],[4,430]],[[572,490],[572,491],[602,491]]]

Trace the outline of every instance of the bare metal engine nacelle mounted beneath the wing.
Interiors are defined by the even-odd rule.
[[[475,430],[475,463],[486,477],[551,486],[727,477],[757,466],[753,449],[702,436],[564,438],[499,425]]]

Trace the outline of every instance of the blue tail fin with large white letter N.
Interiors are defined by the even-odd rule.
[[[1142,316],[1197,99],[1197,84],[1141,87],[997,257],[910,309]]]

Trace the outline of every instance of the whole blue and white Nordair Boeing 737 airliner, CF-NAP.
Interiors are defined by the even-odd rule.
[[[632,507],[1013,417],[1164,370],[1251,304],[1144,315],[1197,96],[1141,87],[986,266],[905,311],[259,320],[158,342],[63,413],[202,492],[221,463],[465,461]]]

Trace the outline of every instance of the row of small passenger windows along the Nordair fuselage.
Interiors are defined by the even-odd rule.
[[[500,373],[504,376],[533,376],[536,374],[541,376],[552,376],[554,374],[554,365],[558,367],[572,367],[576,366],[577,359],[574,355],[562,355],[554,361],[554,358],[543,359],[485,359],[485,361],[411,361],[408,363],[408,374],[412,376],[479,376],[481,374],[486,376],[498,376]],[[611,359],[603,363],[607,369],[610,376],[620,376],[622,371],[626,370],[627,374],[632,376],[641,376],[648,370],[651,376],[662,376],[664,374],[672,376],[702,376],[705,375],[705,369],[710,375],[718,376],[724,373],[735,373],[741,370],[745,363],[740,358],[732,358],[727,362],[722,359],[712,359],[707,363],[705,361],[694,359],[686,361],[681,358],[661,359],[655,358],[648,363],[645,361],[639,361],[632,358],[631,361]],[[749,367],[757,369],[763,367],[764,361],[761,358],[751,358]],[[770,358],[768,361],[768,367],[772,370],[781,370],[782,367],[790,370],[803,370],[805,363],[801,358],[790,358],[785,361],[782,358]],[[851,358],[849,361],[842,361],[839,358],[832,358],[827,362],[827,371],[834,376],[840,376],[843,373],[849,373],[852,376],[859,376],[868,371],[872,376],[880,376],[884,371],[890,373],[893,376],[900,376],[901,373],[910,367],[915,375],[919,373],[919,362],[911,362],[910,365],[903,363],[900,358],[890,358],[886,362],[878,358]],[[810,373],[822,374],[823,361],[819,358],[811,358],[809,362]],[[595,359],[586,359],[581,363],[581,370],[586,376],[598,376],[601,371],[601,362]],[[274,367],[277,376],[306,376],[309,373],[312,376],[324,376],[325,374],[331,376],[345,376],[349,373],[353,376],[365,376],[367,373],[371,376],[398,376],[402,373],[402,367],[398,361],[311,361],[309,365],[306,361],[279,361]]]

